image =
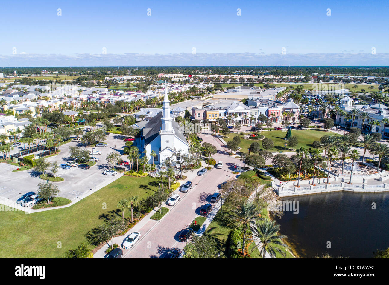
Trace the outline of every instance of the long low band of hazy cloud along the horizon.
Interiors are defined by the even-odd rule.
[[[17,54],[0,55],[0,66],[389,66],[389,54]]]

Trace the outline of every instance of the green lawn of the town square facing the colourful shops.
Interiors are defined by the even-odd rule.
[[[296,136],[298,139],[298,144],[294,147],[294,150],[298,149],[299,147],[306,147],[309,149],[312,148],[312,143],[315,140],[320,140],[320,138],[324,135],[334,135],[334,136],[341,136],[337,133],[334,133],[332,131],[325,131],[324,129],[307,129],[307,130],[291,130],[292,136]],[[233,139],[234,136],[239,135],[240,137],[247,135],[249,133],[228,133],[227,138],[223,138],[226,142]],[[269,151],[278,151],[283,152],[285,149],[284,143],[287,142],[284,140],[286,136],[286,131],[261,131],[261,135],[264,135],[265,138],[270,138],[274,142],[274,147],[272,149],[269,149]],[[248,148],[250,147],[251,143],[256,142],[256,140],[245,140],[241,139],[239,146],[242,148],[238,151],[240,152],[248,152]],[[262,147],[262,141],[258,141],[259,145]],[[290,152],[291,149],[288,149],[286,147],[286,151]]]

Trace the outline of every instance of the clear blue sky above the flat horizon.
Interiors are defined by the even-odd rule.
[[[7,1],[0,66],[196,65],[196,56],[207,65],[240,57],[242,65],[389,65],[388,8],[380,0]]]

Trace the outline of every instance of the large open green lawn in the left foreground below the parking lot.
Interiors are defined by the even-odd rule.
[[[77,188],[75,188],[77,189]],[[101,225],[103,218],[116,214],[121,218],[117,202],[130,196],[143,199],[158,190],[158,180],[122,176],[76,204],[50,211],[25,214],[3,211],[0,219],[0,257],[55,258],[86,242],[86,234]],[[103,207],[106,205],[106,209]],[[125,212],[128,217],[130,211]],[[58,242],[61,242],[61,248]],[[90,246],[93,249],[93,246]]]

